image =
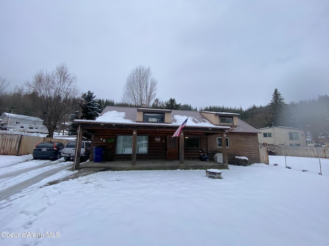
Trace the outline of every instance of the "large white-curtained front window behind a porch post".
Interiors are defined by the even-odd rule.
[[[137,154],[149,153],[149,136],[137,136]],[[116,144],[117,154],[133,153],[133,136],[118,136]]]

